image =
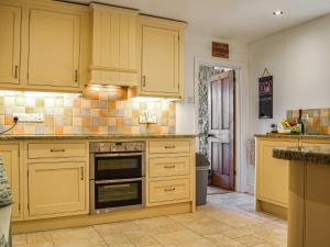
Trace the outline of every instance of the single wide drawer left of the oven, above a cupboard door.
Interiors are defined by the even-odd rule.
[[[28,158],[70,158],[86,157],[84,143],[31,143],[28,144]]]

